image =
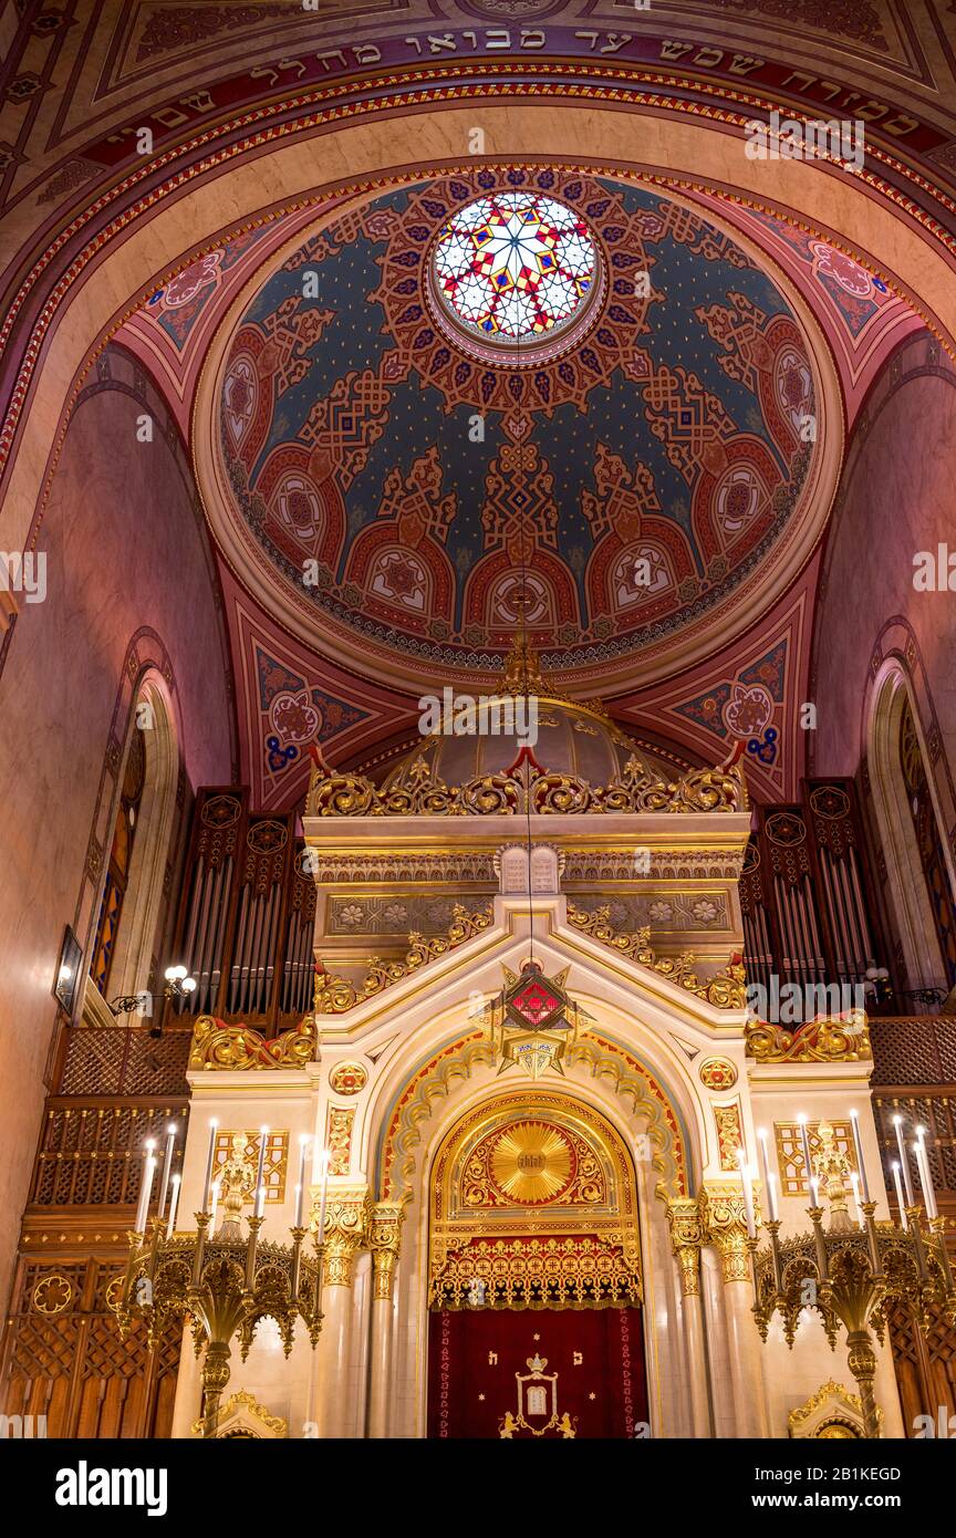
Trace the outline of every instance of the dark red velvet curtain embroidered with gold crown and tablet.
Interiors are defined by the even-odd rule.
[[[529,1367],[535,1357],[546,1361],[535,1363],[538,1372]],[[622,1438],[639,1421],[647,1421],[639,1309],[429,1317],[429,1436]]]

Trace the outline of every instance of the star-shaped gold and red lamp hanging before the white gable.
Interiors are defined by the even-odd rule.
[[[564,987],[569,967],[546,977],[538,961],[529,960],[519,974],[510,967],[503,972],[504,987],[486,1010],[498,1072],[516,1066],[530,1078],[541,1078],[547,1069],[564,1074],[561,1060],[589,1018]]]

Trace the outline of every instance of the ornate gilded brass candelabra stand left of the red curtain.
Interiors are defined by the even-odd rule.
[[[241,1204],[241,1198],[240,1198]],[[189,1317],[197,1357],[203,1361],[203,1436],[214,1436],[220,1398],[229,1383],[232,1338],[238,1335],[243,1361],[260,1320],[278,1324],[286,1357],[292,1350],[297,1317],[312,1347],[321,1332],[324,1244],[315,1238],[315,1257],[303,1253],[309,1229],[294,1227],[292,1244],[260,1243],[261,1217],[251,1217],[243,1238],[238,1215],[227,1207],[223,1223],[209,1233],[212,1215],[197,1212],[195,1233],[163,1233],[152,1218],[144,1233],[129,1235],[129,1260],[117,1307],[120,1335],[134,1318],[146,1321],[151,1347],[172,1317]]]

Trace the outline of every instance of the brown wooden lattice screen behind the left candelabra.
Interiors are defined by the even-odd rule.
[[[168,1436],[180,1329],[149,1350],[120,1340],[111,1286],[123,1272],[143,1143],[184,1132],[191,1030],[77,1027],[61,1040],[23,1215],[0,1358],[6,1415],[48,1436]],[[183,1140],[180,1138],[180,1147]]]

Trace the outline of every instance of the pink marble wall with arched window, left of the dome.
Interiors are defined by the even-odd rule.
[[[101,366],[111,380],[74,411],[40,529],[46,600],[22,604],[0,675],[3,1300],[40,1129],[63,926],[78,915],[85,941],[98,901],[85,867],[137,632],[158,638],[146,637],[141,655],[166,652],[189,781],[232,777],[224,632],[189,468],[175,435],[164,437],[166,412],[141,368],[117,349]],[[144,401],[155,414],[152,443],[137,441]],[[121,738],[124,720],[114,729]],[[112,787],[108,778],[108,795]],[[112,814],[101,820],[111,823]]]

